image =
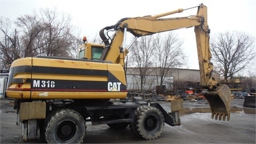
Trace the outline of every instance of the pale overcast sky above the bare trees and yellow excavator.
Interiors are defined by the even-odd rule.
[[[15,20],[20,15],[31,14],[41,8],[56,8],[58,12],[70,14],[73,26],[79,28],[81,37],[86,36],[90,42],[90,39],[93,41],[99,34],[100,29],[114,25],[122,18],[154,15],[179,8],[187,9],[201,3],[207,6],[210,36],[237,30],[256,38],[256,0],[0,0],[0,15]],[[196,12],[197,9],[191,9],[171,17],[195,15]],[[182,48],[188,61],[183,68],[199,69],[194,28],[174,31],[184,41]],[[256,51],[255,45],[254,50]],[[252,70],[256,71],[256,58],[253,63]]]

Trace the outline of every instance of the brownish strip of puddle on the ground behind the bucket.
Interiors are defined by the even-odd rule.
[[[211,113],[211,108],[184,108],[182,111],[179,111],[180,116],[193,113]],[[255,108],[231,107],[231,113],[255,115],[256,110]]]

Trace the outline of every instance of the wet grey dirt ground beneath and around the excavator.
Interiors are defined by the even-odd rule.
[[[207,101],[184,101],[181,125],[173,127],[165,124],[161,137],[151,141],[133,135],[129,127],[113,130],[107,125],[92,126],[86,123],[84,143],[255,143],[255,108],[244,108],[243,101],[231,100],[230,121],[212,119]],[[170,102],[159,103],[170,106]],[[16,125],[17,114],[9,105],[9,100],[1,100],[0,121],[0,143],[24,143],[21,130]]]

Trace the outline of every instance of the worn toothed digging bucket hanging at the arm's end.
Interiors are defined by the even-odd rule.
[[[211,111],[212,111],[212,118],[225,121],[226,116],[229,121],[230,119],[230,99],[231,99],[231,92],[227,85],[220,84],[214,90],[207,90],[205,89],[202,94],[208,100]]]

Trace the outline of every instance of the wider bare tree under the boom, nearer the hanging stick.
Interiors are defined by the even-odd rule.
[[[158,34],[154,39],[154,54],[157,84],[160,89],[171,68],[177,68],[186,63],[186,56],[182,51],[183,41],[177,34],[168,32],[167,35]]]

